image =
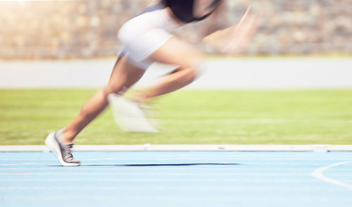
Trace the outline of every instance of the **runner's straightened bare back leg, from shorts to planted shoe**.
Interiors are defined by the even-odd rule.
[[[75,119],[63,130],[63,141],[70,143],[84,127],[96,118],[108,106],[108,94],[125,92],[136,83],[144,74],[144,70],[127,62],[126,56],[116,64],[111,74],[108,85],[96,92],[84,106]]]

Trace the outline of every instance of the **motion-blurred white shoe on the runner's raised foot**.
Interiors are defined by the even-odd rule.
[[[154,125],[156,120],[147,117],[146,106],[125,99],[117,94],[109,94],[108,100],[113,110],[115,122],[126,132],[160,132]]]

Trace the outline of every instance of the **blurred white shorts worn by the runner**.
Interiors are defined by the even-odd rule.
[[[120,56],[146,70],[153,63],[149,56],[172,37],[170,32],[180,27],[165,6],[155,4],[122,25],[118,39],[123,44]]]

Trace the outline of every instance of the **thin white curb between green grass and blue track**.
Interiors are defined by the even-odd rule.
[[[352,151],[352,145],[246,145],[246,144],[200,144],[200,145],[78,145],[74,151]],[[47,152],[44,145],[0,146],[0,152]]]

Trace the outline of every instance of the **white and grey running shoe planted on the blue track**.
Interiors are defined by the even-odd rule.
[[[48,135],[48,137],[46,137],[45,144],[46,146],[49,147],[50,151],[52,151],[56,155],[61,165],[63,166],[80,165],[80,161],[73,158],[73,155],[72,155],[73,143],[63,144],[59,142],[58,138],[56,137],[56,132],[51,132]]]

